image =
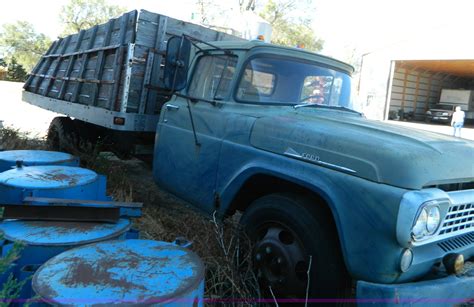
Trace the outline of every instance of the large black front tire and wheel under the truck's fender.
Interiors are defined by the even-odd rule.
[[[326,208],[294,194],[271,194],[254,201],[241,218],[254,242],[253,262],[262,292],[305,298],[343,298],[351,279],[337,231]]]

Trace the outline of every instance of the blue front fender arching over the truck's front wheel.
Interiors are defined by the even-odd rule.
[[[252,176],[263,174],[290,181],[318,194],[328,204],[353,278],[390,283],[400,277],[402,248],[396,240],[396,222],[406,190],[255,148],[242,149],[222,148],[222,157],[233,157],[221,164],[219,172],[217,191],[222,212]]]

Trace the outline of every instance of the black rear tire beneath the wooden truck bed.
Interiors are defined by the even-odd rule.
[[[74,153],[77,146],[77,130],[69,117],[55,117],[51,121],[47,135],[48,147],[52,150]]]

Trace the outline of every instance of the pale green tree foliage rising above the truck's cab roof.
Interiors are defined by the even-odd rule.
[[[290,17],[296,7],[296,1],[269,0],[267,2],[260,16],[272,25],[272,43],[290,47],[304,45],[307,50],[320,51],[324,41],[318,38],[311,28],[311,16]],[[299,8],[299,10],[302,9]]]

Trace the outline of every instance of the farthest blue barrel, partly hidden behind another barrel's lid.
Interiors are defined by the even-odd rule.
[[[67,165],[79,166],[79,158],[57,151],[8,150],[0,151],[0,172],[8,171],[21,161],[24,166]]]

